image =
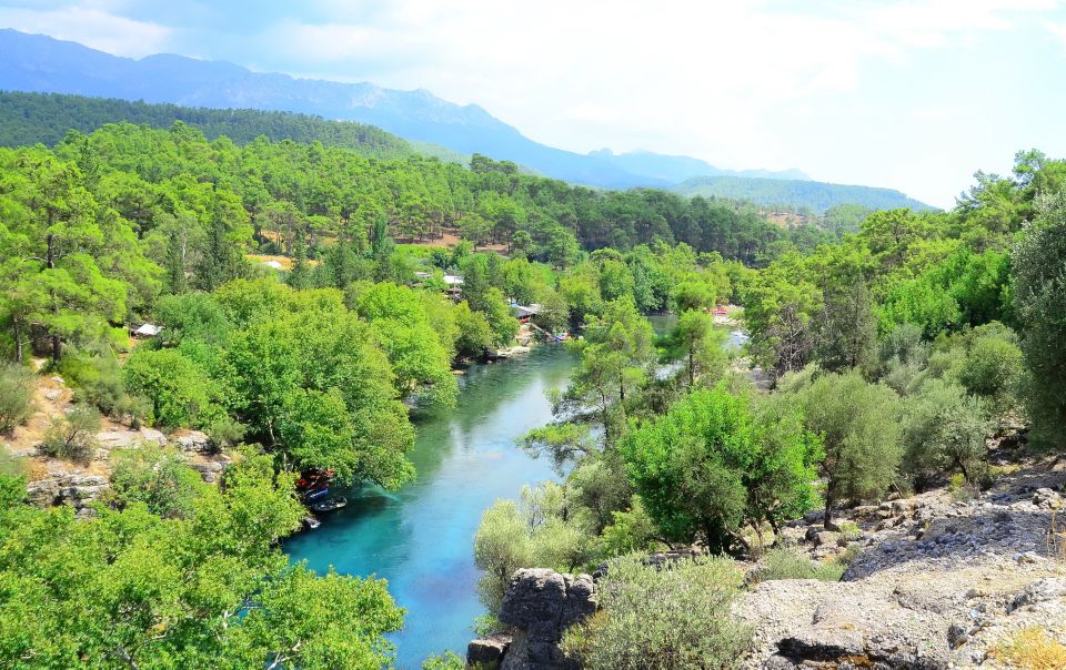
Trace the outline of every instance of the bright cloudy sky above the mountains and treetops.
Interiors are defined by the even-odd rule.
[[[1066,0],[0,0],[0,27],[428,89],[562,149],[942,207],[1018,150],[1066,158]]]

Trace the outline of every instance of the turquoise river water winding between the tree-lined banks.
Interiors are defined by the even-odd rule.
[[[574,361],[564,347],[545,345],[471,367],[460,378],[454,409],[415,417],[413,483],[395,493],[353,489],[345,509],[285,542],[293,559],[315,570],[332,565],[341,573],[389,580],[389,592],[408,608],[404,629],[393,637],[398,668],[416,670],[445,649],[465,651],[471,622],[483,613],[474,530],[496,498],[555,478],[547,460],[530,458],[514,441],[552,419],[545,392],[565,386]]]

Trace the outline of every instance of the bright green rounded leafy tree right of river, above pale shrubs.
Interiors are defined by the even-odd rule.
[[[737,551],[740,529],[805,511],[817,441],[784,406],[756,410],[723,387],[697,390],[621,443],[630,478],[666,539],[702,535]]]

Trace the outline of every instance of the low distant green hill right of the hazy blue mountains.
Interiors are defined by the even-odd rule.
[[[809,207],[818,213],[843,204],[862,205],[869,210],[933,209],[893,189],[783,179],[701,176],[683,182],[674,191],[682,195],[747,200],[764,206]]]

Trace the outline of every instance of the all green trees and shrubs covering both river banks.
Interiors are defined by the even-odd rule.
[[[522,440],[561,481],[497,502],[474,538],[483,626],[517,568],[606,561],[616,586],[567,635],[573,658],[612,667],[641,649],[641,667],[734,666],[748,629],[727,611],[742,586],[724,557],[758,555],[811,509],[829,528],[834,510],[888,491],[955,475],[978,490],[1005,418],[1060,448],[1064,181],[1066,163],[1023,153],[1012,176],[978,174],[952,212],[868,213],[838,236],[482,156],[467,169],[238,146],[181,123],[0,150],[0,427],[19,430],[40,365],[77,403],[43,453],[93,460],[102,415],[202,430],[232,461],[209,486],[168,448],[117,455],[82,518],[28,505],[32,473],[6,461],[0,658],[389,664],[384,635],[403,612],[386,586],[316,576],[278,548],[302,516],[294,480],[328,468],[408,481],[405,403],[454,403],[454,362],[513,341],[512,298],[584,336],[557,422]],[[456,229],[453,248],[394,242]],[[463,275],[462,302],[444,296],[445,272]],[[743,305],[772,392],[724,354],[707,311],[725,302]],[[661,311],[678,319],[655,337],[644,315]],[[129,351],[141,319],[163,329]],[[692,544],[723,558],[654,573],[631,557]],[[663,626],[642,626],[650,616]]]

